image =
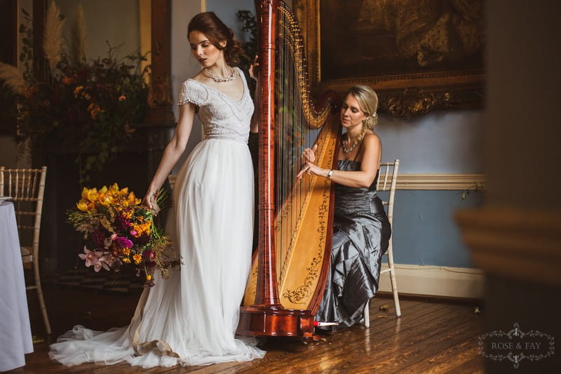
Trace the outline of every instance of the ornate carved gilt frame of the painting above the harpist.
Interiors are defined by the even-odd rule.
[[[344,95],[355,84],[372,86],[379,95],[381,111],[405,118],[424,115],[435,109],[482,106],[485,91],[483,69],[323,80],[319,64],[320,4],[320,0],[293,0],[306,46],[310,83],[316,91],[333,90]]]

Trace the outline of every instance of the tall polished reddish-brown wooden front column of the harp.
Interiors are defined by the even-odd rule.
[[[275,39],[278,1],[256,1],[259,30],[259,95],[264,105],[258,107],[259,118],[259,269],[255,307],[282,307],[276,285],[274,241],[274,125],[275,125]]]

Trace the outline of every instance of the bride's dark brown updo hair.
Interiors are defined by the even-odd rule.
[[[234,32],[217,17],[214,12],[198,13],[189,22],[187,39],[191,32],[198,31],[205,34],[210,43],[224,51],[224,60],[228,65],[236,65],[239,55],[243,52],[241,44],[234,36]],[[220,46],[220,41],[226,41],[226,46]]]

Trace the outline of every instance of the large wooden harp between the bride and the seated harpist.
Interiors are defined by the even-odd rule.
[[[282,1],[256,1],[259,25],[259,243],[237,333],[313,339],[313,319],[330,268],[333,189],[304,175],[304,147],[318,144],[316,163],[332,168],[340,98],[311,100],[302,34]]]

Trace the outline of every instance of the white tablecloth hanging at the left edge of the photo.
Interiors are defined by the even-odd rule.
[[[13,203],[0,203],[0,371],[25,365],[33,352],[18,226]]]

